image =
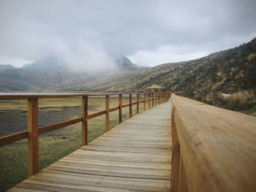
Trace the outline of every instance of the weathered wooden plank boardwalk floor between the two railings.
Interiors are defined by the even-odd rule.
[[[171,106],[125,120],[10,191],[170,191]]]

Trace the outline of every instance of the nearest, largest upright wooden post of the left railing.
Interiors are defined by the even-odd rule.
[[[28,156],[29,177],[39,171],[38,155],[38,99],[28,99]]]

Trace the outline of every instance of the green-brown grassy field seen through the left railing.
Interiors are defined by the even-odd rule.
[[[135,102],[134,98],[132,102]],[[123,104],[129,99],[124,98]],[[118,106],[117,98],[110,98],[110,108]],[[148,107],[148,104],[146,104]],[[136,105],[132,106],[133,115]],[[105,98],[89,98],[89,114],[105,110]],[[143,104],[140,104],[140,111]],[[62,117],[59,117],[61,115]],[[13,115],[21,116],[13,118]],[[81,99],[39,99],[39,124],[56,123],[64,119],[81,115]],[[56,118],[58,117],[58,118]],[[66,118],[65,118],[66,117]],[[67,118],[68,117],[68,118]],[[129,107],[123,109],[123,120],[129,117]],[[63,119],[64,118],[64,119]],[[7,119],[7,120],[6,120]],[[0,136],[26,130],[26,100],[0,102]],[[2,123],[4,122],[4,123]],[[118,124],[118,111],[110,113],[110,128]],[[18,127],[18,128],[14,128]],[[4,129],[5,128],[5,129]],[[3,130],[1,132],[1,130]],[[89,142],[105,132],[105,115],[89,120]],[[4,134],[3,134],[4,133]],[[81,147],[81,123],[77,123],[39,136],[40,169],[53,164],[60,158]],[[0,191],[6,191],[28,177],[27,140],[23,139],[11,145],[0,147]]]

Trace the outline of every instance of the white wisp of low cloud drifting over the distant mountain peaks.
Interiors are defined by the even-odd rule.
[[[74,47],[57,39],[53,53],[73,72],[109,72],[116,69],[113,58],[99,42],[81,40]]]

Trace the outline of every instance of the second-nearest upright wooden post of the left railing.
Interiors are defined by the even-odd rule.
[[[82,145],[88,145],[88,96],[82,99]]]

